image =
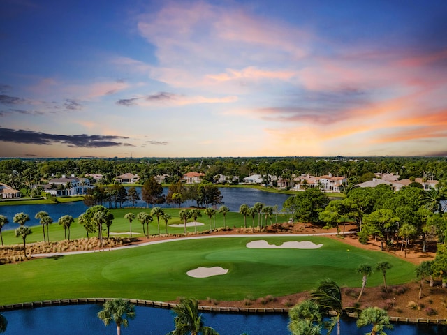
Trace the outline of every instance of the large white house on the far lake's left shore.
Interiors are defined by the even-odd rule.
[[[61,195],[84,195],[87,194],[87,190],[93,186],[90,185],[90,181],[87,178],[78,178],[74,174],[71,177],[66,177],[65,174],[61,178],[53,178],[48,181],[47,185],[43,186],[45,192],[54,196],[60,197]]]

